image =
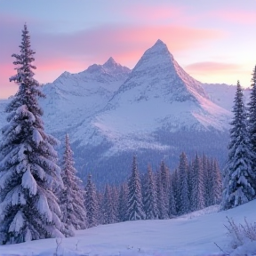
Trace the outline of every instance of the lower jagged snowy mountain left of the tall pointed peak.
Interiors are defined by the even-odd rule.
[[[52,84],[45,84],[47,98],[40,103],[46,129],[60,132],[79,125],[105,107],[130,72],[109,58],[103,65],[94,64],[78,74],[64,72]]]

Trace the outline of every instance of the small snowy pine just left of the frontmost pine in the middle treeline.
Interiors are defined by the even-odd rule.
[[[128,220],[127,212],[128,212],[128,185],[124,182],[121,185],[119,196],[118,196],[118,221]]]

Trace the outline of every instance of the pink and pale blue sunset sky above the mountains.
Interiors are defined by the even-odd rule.
[[[0,99],[17,91],[11,56],[25,22],[39,83],[110,56],[133,68],[157,39],[203,83],[248,87],[256,65],[255,0],[0,1]]]

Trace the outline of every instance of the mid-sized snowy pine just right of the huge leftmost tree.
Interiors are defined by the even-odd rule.
[[[81,188],[82,180],[76,176],[74,164],[73,151],[70,148],[68,134],[66,134],[61,170],[64,188],[60,190],[60,209],[62,222],[68,230],[73,231],[87,227],[84,192]]]

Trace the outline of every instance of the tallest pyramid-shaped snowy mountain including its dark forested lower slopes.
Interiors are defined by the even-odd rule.
[[[81,164],[89,156],[87,172],[93,170],[97,180],[110,182],[127,175],[134,153],[140,169],[148,162],[156,166],[163,158],[174,167],[182,150],[188,155],[204,151],[220,156],[223,163],[232,114],[215,104],[204,87],[180,68],[158,40],[106,107],[72,131]]]

